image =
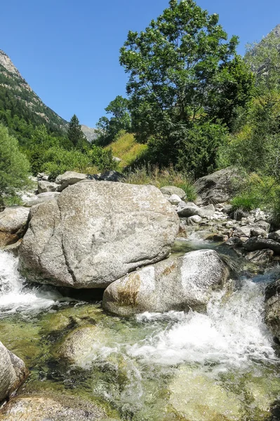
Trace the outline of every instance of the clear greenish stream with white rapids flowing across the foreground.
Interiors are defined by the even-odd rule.
[[[189,243],[182,243],[189,250]],[[194,248],[210,247],[196,243]],[[181,247],[182,248],[182,247]],[[175,252],[180,253],[179,245]],[[213,294],[207,312],[110,316],[100,303],[29,287],[17,259],[0,252],[0,340],[31,374],[21,391],[67,392],[133,421],[279,420],[278,349],[263,323],[263,289],[277,271],[240,274],[231,295]],[[95,326],[76,364],[58,359],[65,336]]]

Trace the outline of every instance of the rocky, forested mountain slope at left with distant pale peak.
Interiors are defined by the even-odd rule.
[[[73,110],[74,114],[74,110]],[[30,126],[45,124],[49,131],[62,134],[68,122],[44,104],[4,51],[0,50],[0,122],[4,121],[13,134],[28,137]],[[82,126],[88,141],[95,138],[95,129]]]

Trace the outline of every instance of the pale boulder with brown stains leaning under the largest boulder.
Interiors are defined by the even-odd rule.
[[[103,307],[121,316],[201,310],[228,276],[227,266],[214,250],[192,251],[118,279],[105,290]]]

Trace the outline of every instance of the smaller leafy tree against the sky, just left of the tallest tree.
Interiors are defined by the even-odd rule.
[[[105,108],[106,113],[110,114],[111,117],[108,119],[107,116],[102,116],[96,124],[98,128],[96,143],[98,145],[109,145],[119,131],[131,130],[131,115],[128,112],[128,104],[129,101],[126,98],[118,95]]]

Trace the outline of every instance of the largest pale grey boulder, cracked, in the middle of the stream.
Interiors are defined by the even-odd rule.
[[[179,218],[150,185],[83,182],[35,206],[20,245],[27,279],[72,288],[106,288],[165,258]]]

